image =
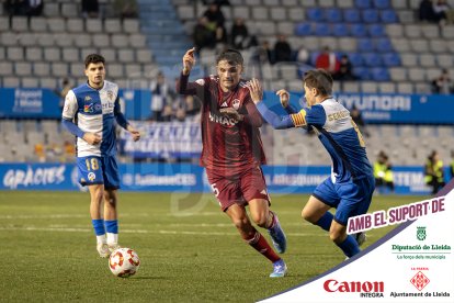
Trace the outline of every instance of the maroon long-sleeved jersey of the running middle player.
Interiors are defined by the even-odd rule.
[[[265,164],[259,127],[262,117],[241,80],[235,90],[223,92],[219,77],[211,76],[188,82],[189,76],[181,75],[177,90],[202,100],[201,165],[220,170],[225,176],[237,175],[251,167]],[[232,108],[243,115],[242,121],[223,115],[219,110]]]

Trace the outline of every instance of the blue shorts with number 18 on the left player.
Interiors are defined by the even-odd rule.
[[[79,183],[104,184],[105,189],[120,189],[120,173],[115,156],[78,157]]]

